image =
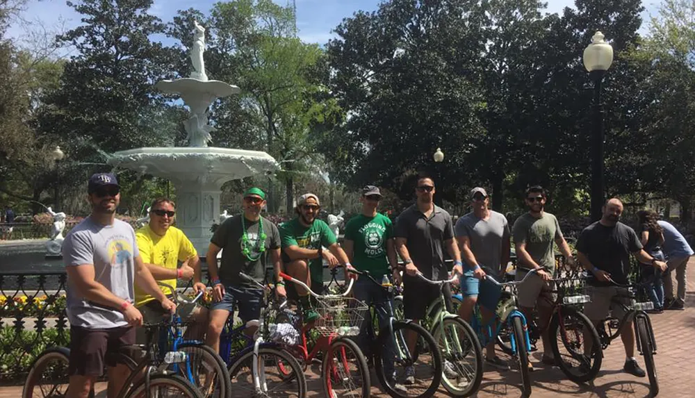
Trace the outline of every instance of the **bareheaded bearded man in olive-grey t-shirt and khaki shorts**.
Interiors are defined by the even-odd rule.
[[[550,307],[548,300],[539,300],[538,298],[541,293],[549,298],[553,296],[548,292],[553,290],[553,283],[550,280],[555,274],[553,243],[557,244],[567,263],[571,267],[575,265],[572,252],[562,236],[557,218],[543,211],[546,198],[546,190],[540,186],[535,185],[528,188],[525,202],[529,211],[518,217],[514,222],[514,227],[512,227],[517,258],[516,280],[521,281],[528,270],[538,270],[537,274],[518,285],[518,303],[529,320],[531,320],[530,315],[534,306],[538,304],[539,324],[541,325],[548,324],[550,315],[552,315],[552,307]],[[555,365],[555,358],[548,351],[550,349],[548,329],[541,333],[541,340],[543,340],[544,350],[541,362],[546,365]]]

